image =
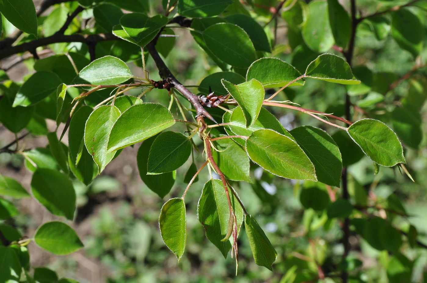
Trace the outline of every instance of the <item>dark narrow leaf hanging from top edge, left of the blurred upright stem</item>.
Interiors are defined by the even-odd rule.
[[[336,45],[346,48],[351,37],[350,16],[338,0],[328,0],[328,14],[330,29]]]

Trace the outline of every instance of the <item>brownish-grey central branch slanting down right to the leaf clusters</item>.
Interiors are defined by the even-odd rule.
[[[182,95],[184,95],[185,98],[187,98],[191,104],[193,104],[193,107],[196,109],[197,116],[205,116],[206,118],[211,119],[213,122],[218,124],[215,119],[211,116],[211,114],[208,113],[208,111],[203,108],[202,104],[200,104],[199,97],[195,95],[193,92],[188,90],[184,85],[182,85],[170,72],[170,69],[166,66],[163,59],[160,57],[159,53],[155,49],[155,40],[148,43],[146,46],[146,49],[150,53],[151,57],[153,58],[157,69],[159,70],[159,74],[163,79],[169,78],[170,81],[173,84],[173,87],[181,92]]]

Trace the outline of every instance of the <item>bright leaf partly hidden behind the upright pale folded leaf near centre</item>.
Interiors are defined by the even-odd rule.
[[[264,107],[261,108],[260,114],[258,115],[258,119],[255,123],[248,128],[246,128],[245,116],[243,116],[243,111],[240,107],[234,108],[231,115],[228,112],[224,113],[222,122],[229,123],[228,126],[225,126],[225,129],[230,132],[230,136],[250,136],[256,130],[271,129],[293,139],[291,134],[282,126],[282,124],[280,124],[278,119]],[[245,141],[243,139],[237,138],[234,139],[234,141],[245,146]]]

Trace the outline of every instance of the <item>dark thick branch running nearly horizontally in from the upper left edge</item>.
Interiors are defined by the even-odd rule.
[[[82,42],[88,45],[98,43],[105,40],[118,40],[115,35],[112,33],[105,34],[95,34],[95,35],[60,35],[55,34],[48,36],[47,38],[40,38],[30,42],[22,43],[16,46],[2,46],[0,47],[0,60],[12,56],[17,53],[22,53],[26,51],[34,50],[37,47],[49,45],[52,43],[61,43],[61,42]]]

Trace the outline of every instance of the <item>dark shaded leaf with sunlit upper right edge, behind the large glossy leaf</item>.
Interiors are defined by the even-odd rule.
[[[298,145],[314,165],[317,180],[326,185],[339,187],[342,159],[335,141],[324,130],[302,126],[290,131]]]

